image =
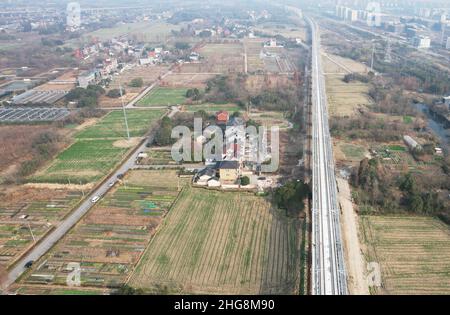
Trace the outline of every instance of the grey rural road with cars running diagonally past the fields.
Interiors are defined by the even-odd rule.
[[[168,114],[172,117],[178,111],[177,107],[172,108],[172,112]],[[122,165],[112,173],[104,183],[93,191],[88,198],[86,198],[81,205],[78,206],[64,221],[56,227],[56,229],[51,232],[47,237],[45,237],[41,242],[31,249],[21,260],[19,260],[14,268],[12,268],[8,274],[8,278],[1,285],[2,289],[6,289],[11,284],[13,284],[27,269],[25,264],[28,261],[37,261],[41,258],[53,245],[56,244],[69,230],[93,207],[94,203],[91,199],[94,196],[99,196],[100,198],[104,196],[111,187],[109,184],[111,182],[117,181],[117,176],[119,174],[125,174],[128,170],[132,169],[135,165],[135,161],[139,152],[144,151],[147,142],[153,141],[156,129],[153,129],[147,136],[147,140],[134,149],[131,156],[122,163]]]

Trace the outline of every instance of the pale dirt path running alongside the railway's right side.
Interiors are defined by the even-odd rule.
[[[339,187],[339,203],[342,207],[342,237],[348,275],[348,289],[350,294],[368,295],[364,258],[362,256],[358,238],[358,216],[353,211],[350,187],[348,182],[337,178]]]

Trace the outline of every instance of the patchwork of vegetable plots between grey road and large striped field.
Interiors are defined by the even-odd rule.
[[[68,264],[75,262],[82,270],[81,288],[121,286],[178,196],[179,183],[184,181],[176,171],[129,172],[20,284],[65,289]]]

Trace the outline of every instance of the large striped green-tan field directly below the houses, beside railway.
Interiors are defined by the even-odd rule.
[[[263,197],[186,187],[129,285],[148,292],[293,294],[300,282],[299,221]]]

